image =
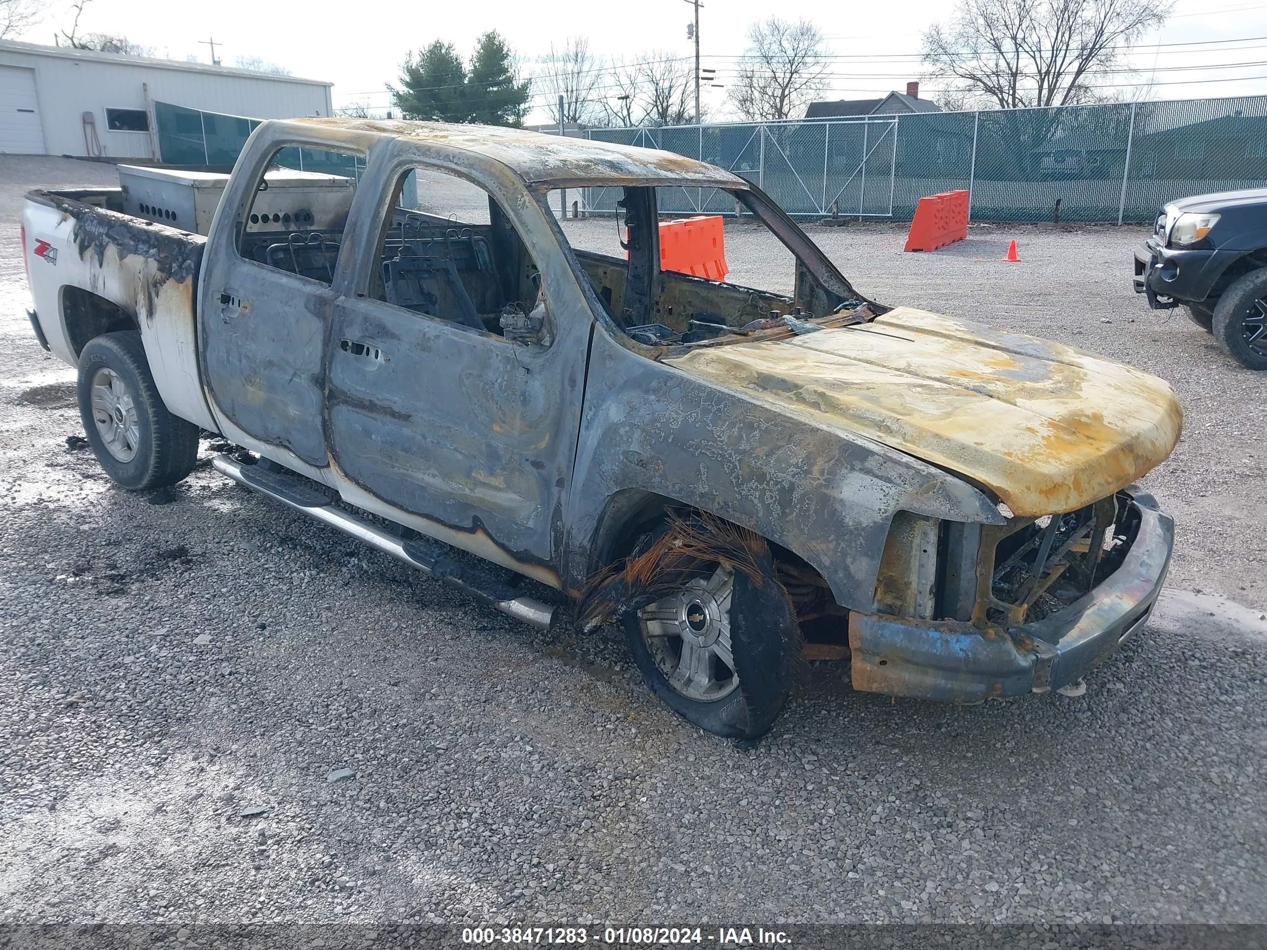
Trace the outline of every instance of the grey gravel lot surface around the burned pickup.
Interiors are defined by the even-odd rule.
[[[1081,698],[891,702],[818,664],[742,747],[612,630],[532,631],[205,466],[111,488],[11,248],[25,187],[113,179],[0,166],[0,922],[1267,918],[1263,379],[1134,298],[1140,231],[811,229],[883,301],[1168,379],[1186,436],[1147,485],[1178,550]],[[777,250],[727,236],[741,281],[787,284]]]

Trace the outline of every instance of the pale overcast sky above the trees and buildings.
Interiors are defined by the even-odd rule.
[[[1150,0],[1139,0],[1149,3]],[[772,11],[784,19],[803,16],[829,38],[836,54],[829,99],[878,96],[919,79],[922,30],[945,16],[945,0],[850,3],[799,0],[772,5],[768,0],[707,0],[701,10],[702,66],[717,70],[720,81],[744,51],[744,34],[754,20]],[[52,43],[57,28],[67,28],[72,14],[66,0],[49,4],[44,22],[22,39]],[[90,0],[80,22],[84,32],[122,33],[155,47],[158,56],[210,61],[207,44],[214,37],[226,66],[236,56],[258,56],[286,66],[296,76],[334,84],[336,108],[364,101],[375,109],[390,104],[385,90],[399,75],[405,53],[432,39],[457,44],[469,54],[475,38],[498,29],[531,68],[550,43],[584,34],[595,53],[632,60],[663,52],[689,57],[687,39],[692,8],[685,0],[556,0],[552,4],[423,3],[359,4],[261,3],[218,0],[215,4],[172,0]],[[1178,46],[1202,41],[1237,41]],[[1140,41],[1131,57],[1153,77],[1152,99],[1267,94],[1267,0],[1177,0],[1168,24]],[[1230,66],[1232,63],[1257,63]],[[1154,72],[1156,70],[1156,72]],[[1101,77],[1125,84],[1130,77]],[[1131,89],[1107,90],[1129,98]],[[706,89],[706,103],[717,111],[725,90]],[[537,95],[535,103],[544,100]],[[528,122],[545,122],[538,109]]]

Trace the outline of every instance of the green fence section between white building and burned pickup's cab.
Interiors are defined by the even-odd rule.
[[[167,165],[227,166],[237,161],[260,119],[186,109],[155,103],[158,155]],[[361,166],[350,155],[319,148],[284,148],[276,163],[284,168],[360,177]]]

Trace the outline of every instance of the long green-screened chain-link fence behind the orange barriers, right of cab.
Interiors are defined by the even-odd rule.
[[[972,191],[976,220],[1152,220],[1177,198],[1267,184],[1267,96],[907,113],[864,119],[590,129],[702,158],[789,214],[910,219],[924,195]],[[587,189],[589,210],[620,194]],[[661,189],[670,213],[734,213],[707,189]]]

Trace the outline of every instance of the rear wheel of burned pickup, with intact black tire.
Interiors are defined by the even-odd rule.
[[[172,485],[194,470],[198,427],[167,412],[137,331],[87,342],[77,391],[84,434],[111,480],[143,491]]]

